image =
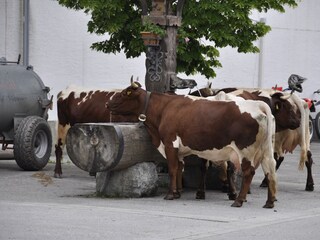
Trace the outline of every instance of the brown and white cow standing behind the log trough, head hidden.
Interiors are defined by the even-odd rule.
[[[70,126],[76,123],[137,122],[134,116],[112,116],[106,103],[120,94],[119,90],[89,90],[69,86],[57,96],[58,136],[55,145],[56,165],[54,176],[62,176],[61,159],[65,138]]]

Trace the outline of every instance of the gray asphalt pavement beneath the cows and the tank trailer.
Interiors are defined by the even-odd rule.
[[[0,239],[320,239],[320,143],[312,143],[315,189],[304,191],[306,169],[298,170],[298,151],[288,154],[278,171],[278,201],[264,209],[267,190],[259,168],[252,193],[242,208],[232,208],[225,193],[194,190],[181,199],[95,197],[95,178],[72,164],[63,178],[53,178],[54,165],[40,172],[19,169],[0,160]],[[1,154],[0,154],[1,155]],[[4,156],[2,158],[8,158]]]

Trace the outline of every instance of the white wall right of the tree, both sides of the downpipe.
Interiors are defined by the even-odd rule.
[[[267,24],[272,27],[262,40],[262,87],[275,84],[287,86],[288,77],[296,73],[308,78],[301,95],[311,97],[313,91],[320,88],[319,12],[320,2],[308,0],[301,1],[297,8],[287,8],[285,13],[270,11],[253,17],[256,20],[266,18]],[[213,82],[219,87],[256,87],[258,59],[258,54],[237,54],[234,50],[223,49],[223,68],[217,71]]]

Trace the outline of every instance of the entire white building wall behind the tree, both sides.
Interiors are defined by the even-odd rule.
[[[0,1],[0,57],[15,60],[22,53],[22,0]],[[213,86],[257,87],[261,72],[262,87],[286,86],[291,73],[308,78],[303,96],[312,96],[320,88],[320,12],[319,0],[301,1],[286,13],[254,13],[252,18],[266,18],[272,31],[265,36],[262,67],[259,54],[240,54],[225,48],[220,52],[223,68],[210,79]],[[145,56],[126,59],[124,54],[107,55],[90,49],[103,36],[87,33],[89,16],[60,6],[55,0],[30,0],[30,64],[44,83],[56,94],[69,84],[97,88],[123,88],[131,75],[144,82]],[[259,41],[256,42],[259,45]],[[183,74],[180,76],[184,77]],[[204,76],[189,76],[199,87]],[[181,91],[185,92],[185,91]],[[320,99],[320,98],[319,98]],[[55,99],[54,99],[55,100]],[[56,119],[56,110],[50,113]]]

